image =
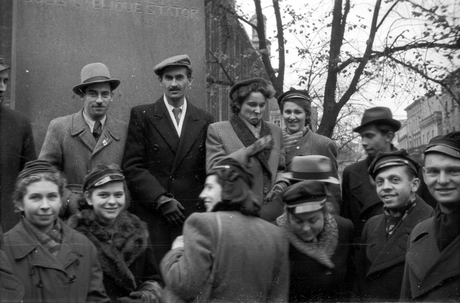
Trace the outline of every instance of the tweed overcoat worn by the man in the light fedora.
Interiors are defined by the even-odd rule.
[[[96,142],[83,118],[83,110],[51,121],[39,159],[49,161],[64,173],[68,181],[64,197],[70,199],[68,215],[76,213],[83,178],[92,168],[99,163],[121,166],[127,126],[126,122],[107,114]]]

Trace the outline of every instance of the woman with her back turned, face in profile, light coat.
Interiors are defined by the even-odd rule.
[[[255,146],[261,140],[257,149],[270,149],[270,138]],[[185,220],[184,235],[161,261],[176,300],[286,302],[288,245],[282,229],[257,218],[252,184],[251,172],[234,159],[211,169],[200,194],[207,213]]]

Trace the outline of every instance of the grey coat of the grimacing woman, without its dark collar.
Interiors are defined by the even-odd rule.
[[[270,150],[270,157],[268,158],[268,166],[272,178],[270,179],[264,174],[259,160],[252,157],[249,159],[249,163],[247,163],[248,168],[254,176],[253,192],[258,196],[260,202],[264,200],[276,182],[286,181],[289,183],[286,178],[282,177],[282,173],[286,170],[282,131],[274,123],[265,123],[270,127],[274,141],[273,147]],[[230,154],[233,154],[232,157],[238,161],[245,163],[247,161],[245,159],[247,157],[246,148],[240,138],[238,138],[238,135],[236,135],[230,121],[211,124],[207,130],[206,139],[206,170],[209,171],[220,159]],[[279,205],[276,206],[276,204]],[[282,213],[282,205],[277,201],[265,204],[259,212],[260,218],[268,221],[275,220]]]

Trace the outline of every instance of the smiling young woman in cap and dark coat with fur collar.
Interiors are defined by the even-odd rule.
[[[124,179],[118,165],[98,164],[82,185],[90,209],[72,215],[67,223],[96,246],[112,301],[159,302],[162,281],[147,224],[125,210]]]

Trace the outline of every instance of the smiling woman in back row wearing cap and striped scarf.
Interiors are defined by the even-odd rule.
[[[296,90],[291,87],[277,98],[278,106],[286,127],[283,129],[284,145],[286,147],[286,167],[288,171],[296,169],[293,159],[298,156],[320,155],[328,157],[334,164],[335,178],[337,174],[337,146],[334,141],[323,135],[315,134],[307,127],[311,117],[311,99],[306,90]],[[328,183],[327,204],[330,212],[339,214],[342,202],[340,185]]]

